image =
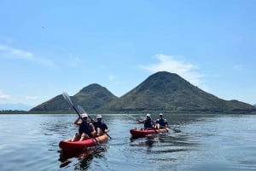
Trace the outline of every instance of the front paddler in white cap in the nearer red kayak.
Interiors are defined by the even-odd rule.
[[[87,118],[88,115],[86,113],[83,113],[81,117],[78,117],[74,122],[75,125],[79,126],[79,132],[73,136],[72,141],[81,141],[95,137],[95,128],[92,123],[88,123]],[[79,119],[81,119],[82,122],[79,122]]]

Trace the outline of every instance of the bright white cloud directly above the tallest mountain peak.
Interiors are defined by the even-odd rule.
[[[175,60],[173,56],[166,54],[155,54],[154,58],[159,60],[159,62],[150,66],[142,66],[143,69],[153,73],[157,71],[169,71],[183,77],[189,83],[196,86],[203,86],[201,79],[204,76],[200,73],[197,66],[185,61]]]

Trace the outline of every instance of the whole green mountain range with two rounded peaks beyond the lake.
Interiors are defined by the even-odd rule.
[[[222,100],[166,71],[148,77],[120,98],[107,88],[90,84],[71,97],[74,104],[89,112],[256,112],[256,107],[238,100]],[[61,95],[31,111],[67,111],[70,106]]]

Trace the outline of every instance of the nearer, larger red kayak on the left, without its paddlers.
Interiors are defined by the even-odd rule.
[[[90,138],[87,140],[82,141],[71,141],[72,139],[61,140],[59,143],[60,148],[63,152],[74,152],[74,151],[81,151],[87,147],[95,146],[98,143],[105,143],[108,141],[108,135],[102,134],[96,138]]]

